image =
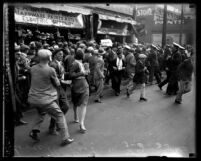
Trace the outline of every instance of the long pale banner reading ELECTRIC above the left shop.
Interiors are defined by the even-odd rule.
[[[46,12],[36,8],[16,7],[15,21],[57,27],[84,28],[81,14]]]

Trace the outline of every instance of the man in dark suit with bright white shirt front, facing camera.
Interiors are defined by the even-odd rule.
[[[112,62],[112,88],[115,91],[115,95],[120,95],[121,80],[123,77],[123,71],[125,69],[125,62],[123,60],[123,48],[118,48],[117,58]]]

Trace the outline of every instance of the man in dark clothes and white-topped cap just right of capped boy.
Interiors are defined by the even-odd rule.
[[[158,62],[158,48],[155,45],[151,45],[150,53],[147,57],[147,62],[150,65],[149,83],[153,84],[153,78],[155,76],[157,84],[161,82]]]

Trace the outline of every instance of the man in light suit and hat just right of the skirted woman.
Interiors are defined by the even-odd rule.
[[[94,54],[96,55],[96,66],[94,70],[94,84],[96,87],[95,100],[94,102],[101,103],[101,98],[103,97],[103,88],[104,88],[104,60],[103,54],[104,50],[100,48],[95,50]]]

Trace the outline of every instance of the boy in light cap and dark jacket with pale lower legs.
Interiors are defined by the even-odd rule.
[[[139,59],[136,64],[135,76],[133,78],[133,90],[136,89],[137,85],[140,85],[140,101],[147,101],[145,97],[145,81],[146,74],[149,73],[147,67],[145,66],[145,60],[147,56],[145,54],[140,54]]]

